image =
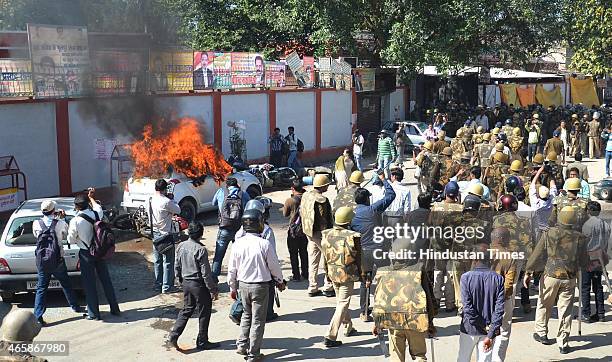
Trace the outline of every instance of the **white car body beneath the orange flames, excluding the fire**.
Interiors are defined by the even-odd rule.
[[[249,172],[236,172],[230,177],[235,177],[240,189],[246,191],[251,198],[262,194],[259,180]],[[212,204],[213,196],[220,187],[224,187],[218,185],[212,177],[201,177],[198,180],[200,182],[194,182],[185,175],[172,173],[165,180],[172,188],[174,200],[181,207],[181,216],[187,221],[194,220],[200,212],[215,210],[217,207]],[[157,179],[149,177],[130,177],[121,202],[125,211],[132,212],[140,207],[148,207],[148,200],[155,193],[155,181]]]

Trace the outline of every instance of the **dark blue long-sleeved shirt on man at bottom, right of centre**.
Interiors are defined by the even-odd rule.
[[[478,266],[461,276],[460,285],[463,315],[459,330],[492,339],[504,316],[504,277],[486,266]]]

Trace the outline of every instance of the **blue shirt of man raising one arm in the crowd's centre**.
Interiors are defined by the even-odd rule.
[[[395,199],[395,191],[391,184],[383,181],[385,195],[382,199],[376,201],[372,205],[357,205],[355,207],[355,216],[351,222],[351,229],[361,234],[361,248],[364,250],[374,250],[377,248],[377,243],[374,242],[374,228],[377,225],[377,220],[380,214],[383,213],[391,205]]]

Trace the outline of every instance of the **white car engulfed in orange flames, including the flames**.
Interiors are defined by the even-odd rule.
[[[252,198],[262,194],[257,177],[233,172],[223,155],[203,141],[198,122],[183,118],[167,134],[155,135],[146,126],[143,139],[130,146],[134,174],[124,187],[121,206],[129,213],[146,210],[155,193],[155,181],[164,178],[181,207],[181,217],[191,221],[200,212],[215,210],[212,199],[227,177],[235,177]]]

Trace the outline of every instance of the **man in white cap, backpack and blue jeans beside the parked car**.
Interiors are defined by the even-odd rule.
[[[70,283],[70,277],[68,276],[68,269],[66,268],[66,262],[64,261],[64,248],[62,247],[62,240],[65,240],[68,236],[68,224],[63,220],[66,214],[64,210],[55,211],[55,202],[52,200],[43,201],[40,209],[43,213],[43,217],[40,220],[35,220],[32,224],[32,233],[35,238],[38,238],[42,232],[46,231],[48,228],[54,227],[52,232],[55,232],[55,239],[59,243],[59,251],[62,257],[57,269],[52,272],[45,272],[43,270],[38,270],[38,284],[36,285],[36,298],[34,299],[34,315],[36,319],[41,325],[45,325],[45,320],[43,319],[43,314],[45,314],[45,310],[47,309],[47,305],[45,303],[45,297],[47,295],[47,289],[49,288],[49,282],[51,281],[51,277],[53,276],[57,279],[62,286],[62,290],[64,291],[64,295],[66,296],[66,300],[72,310],[76,313],[83,312],[83,309],[79,306],[76,295],[72,290],[72,285]],[[55,217],[57,215],[57,217]]]

